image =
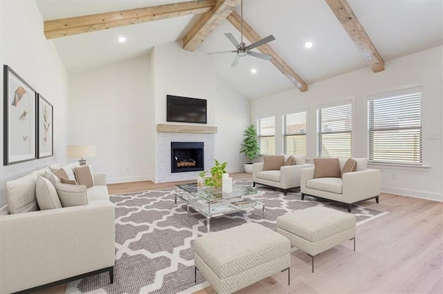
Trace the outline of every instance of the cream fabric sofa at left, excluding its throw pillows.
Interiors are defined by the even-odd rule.
[[[93,175],[87,205],[38,210],[35,186],[45,171],[51,172],[6,184],[8,206],[22,212],[0,215],[0,293],[34,292],[105,271],[112,283],[115,217],[106,175]]]

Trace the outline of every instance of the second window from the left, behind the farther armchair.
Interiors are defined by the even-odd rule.
[[[306,111],[283,115],[284,154],[306,155]]]

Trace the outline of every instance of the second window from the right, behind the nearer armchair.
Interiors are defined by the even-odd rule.
[[[350,157],[352,104],[317,110],[318,156]]]

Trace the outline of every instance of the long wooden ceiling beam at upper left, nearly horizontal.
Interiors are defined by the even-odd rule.
[[[84,15],[82,17],[70,17],[67,19],[55,19],[44,22],[44,35],[46,39],[54,39],[83,34],[85,32],[96,32],[109,28],[130,26],[147,21],[182,17],[183,15],[189,14],[200,14],[212,10],[216,3],[216,0],[198,0]]]

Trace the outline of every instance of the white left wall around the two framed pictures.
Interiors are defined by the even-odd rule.
[[[3,64],[40,92],[53,105],[54,156],[3,166],[0,153],[0,206],[6,204],[5,184],[53,162],[66,162],[68,129],[68,77],[53,41],[43,35],[43,19],[35,1],[0,1],[0,92],[3,95]],[[3,103],[0,104],[0,138],[3,149]]]

